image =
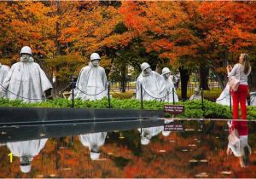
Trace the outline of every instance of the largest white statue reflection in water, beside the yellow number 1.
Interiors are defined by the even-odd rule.
[[[14,156],[20,158],[20,170],[28,173],[31,170],[32,159],[44,148],[47,139],[31,141],[7,142],[7,147]]]

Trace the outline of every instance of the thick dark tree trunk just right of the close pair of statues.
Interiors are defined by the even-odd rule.
[[[181,80],[181,97],[182,100],[187,100],[187,88],[188,88],[188,82],[189,82],[189,70],[185,69],[184,66],[180,66],[179,68],[180,72],[180,80]]]

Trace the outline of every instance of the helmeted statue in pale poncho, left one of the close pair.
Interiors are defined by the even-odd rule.
[[[142,73],[137,78],[137,99],[141,99],[141,86],[143,86],[143,100],[164,100],[166,97],[165,79],[157,72],[151,71],[148,63],[141,65]]]

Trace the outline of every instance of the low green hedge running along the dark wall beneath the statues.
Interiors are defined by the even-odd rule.
[[[166,102],[143,101],[143,109],[163,110]],[[185,106],[185,113],[178,115],[178,118],[232,118],[230,107],[219,105],[215,102],[204,101],[204,110],[202,110],[201,101],[177,102]],[[39,103],[25,103],[23,101],[9,101],[0,98],[0,107],[71,107],[72,101],[56,98],[55,100],[43,101]],[[76,108],[108,108],[108,99],[101,101],[81,101],[74,100]],[[115,109],[141,109],[141,102],[136,99],[111,99],[111,107]],[[170,115],[169,115],[170,116]],[[247,118],[256,118],[256,107],[247,107]]]

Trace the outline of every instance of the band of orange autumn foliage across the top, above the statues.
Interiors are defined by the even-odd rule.
[[[108,56],[108,49],[113,55],[139,41],[160,59],[177,65],[183,58],[188,64],[205,62],[215,72],[226,60],[220,54],[231,54],[235,60],[233,54],[256,46],[254,2],[104,3],[1,2],[0,58],[18,61],[21,47],[30,45],[35,55],[46,58],[99,52],[109,61],[113,56]],[[116,31],[120,24],[122,32]]]

